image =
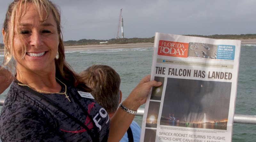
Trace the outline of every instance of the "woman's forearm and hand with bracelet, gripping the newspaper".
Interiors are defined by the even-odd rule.
[[[155,80],[150,81],[150,75],[144,77],[132,90],[130,95],[123,101],[123,105],[129,109],[138,110],[138,108],[146,102],[151,87],[161,85],[161,82],[157,82]],[[110,120],[108,141],[119,142],[132,123],[134,116],[135,115],[118,107],[116,113]]]

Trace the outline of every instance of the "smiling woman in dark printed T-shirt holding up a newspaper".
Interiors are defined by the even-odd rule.
[[[65,62],[54,4],[14,0],[2,33],[5,64],[13,61],[16,71],[0,116],[2,141],[119,141],[150,88],[161,85],[143,78],[109,122]]]

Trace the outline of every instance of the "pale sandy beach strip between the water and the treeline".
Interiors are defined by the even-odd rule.
[[[237,39],[241,44],[256,44],[256,39]],[[73,45],[65,46],[65,51],[97,50],[97,49],[129,49],[129,48],[152,48],[154,43],[127,43],[127,44],[100,44],[100,45]],[[0,49],[3,52],[3,49]]]

